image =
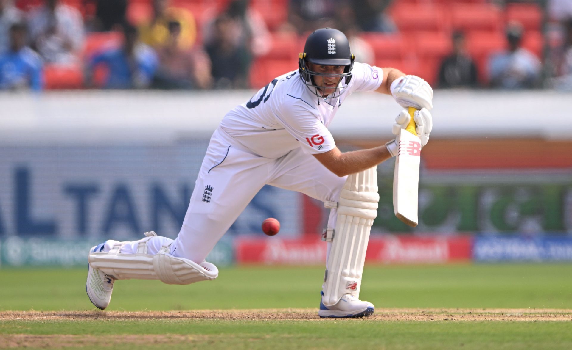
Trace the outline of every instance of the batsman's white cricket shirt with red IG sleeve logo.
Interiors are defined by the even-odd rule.
[[[352,73],[345,92],[334,99],[313,94],[297,70],[280,75],[229,111],[220,128],[265,158],[279,158],[297,147],[309,154],[332,150],[336,143],[328,126],[345,98],[354,91],[375,91],[383,79],[382,69],[366,63],[355,62]]]

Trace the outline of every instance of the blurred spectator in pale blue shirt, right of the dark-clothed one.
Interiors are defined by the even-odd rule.
[[[522,31],[519,23],[507,25],[509,50],[492,55],[489,61],[492,87],[518,89],[538,86],[541,63],[533,53],[521,47]]]

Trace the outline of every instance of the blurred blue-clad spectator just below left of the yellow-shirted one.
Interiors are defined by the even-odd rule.
[[[124,24],[124,43],[118,49],[96,54],[86,70],[86,84],[92,86],[93,73],[99,65],[108,70],[105,88],[146,88],[157,69],[157,55],[149,46],[138,42],[137,28]]]

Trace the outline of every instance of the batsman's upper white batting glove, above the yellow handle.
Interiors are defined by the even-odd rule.
[[[406,75],[391,83],[391,95],[403,108],[415,107],[420,110],[433,108],[433,89],[416,75]]]

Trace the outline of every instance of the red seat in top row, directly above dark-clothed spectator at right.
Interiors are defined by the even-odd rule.
[[[490,3],[454,3],[451,5],[451,25],[456,30],[503,29],[501,10]]]

